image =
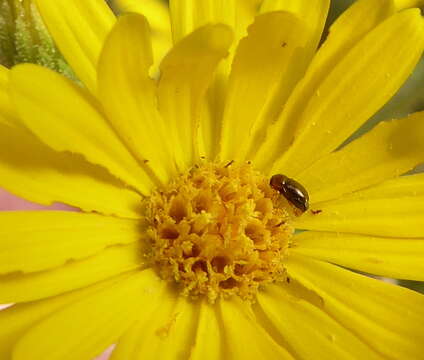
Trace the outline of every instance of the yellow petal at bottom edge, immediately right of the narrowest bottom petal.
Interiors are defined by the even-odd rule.
[[[256,322],[250,305],[237,297],[220,301],[225,348],[229,360],[293,357]]]

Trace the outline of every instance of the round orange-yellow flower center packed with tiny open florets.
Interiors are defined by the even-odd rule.
[[[285,280],[294,216],[250,163],[205,163],[156,190],[147,217],[152,260],[184,295],[253,299]]]

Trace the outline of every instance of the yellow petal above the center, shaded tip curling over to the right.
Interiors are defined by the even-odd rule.
[[[180,170],[198,160],[199,117],[205,93],[231,41],[226,25],[206,25],[177,43],[161,63],[159,110]]]

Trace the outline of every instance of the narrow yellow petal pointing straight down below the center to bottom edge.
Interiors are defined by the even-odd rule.
[[[216,306],[203,301],[200,305],[199,323],[190,360],[217,360],[225,355]]]

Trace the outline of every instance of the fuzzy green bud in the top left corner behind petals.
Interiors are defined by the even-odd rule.
[[[0,63],[39,64],[75,76],[55,46],[32,0],[0,0]]]

